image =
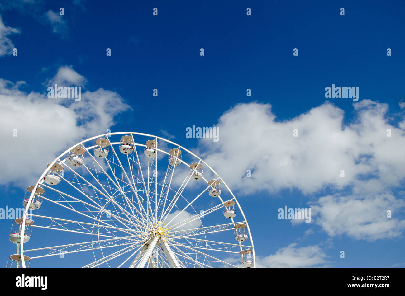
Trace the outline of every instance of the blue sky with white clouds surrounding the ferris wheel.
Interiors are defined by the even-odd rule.
[[[170,137],[220,173],[262,266],[404,266],[403,3],[103,2],[0,2],[1,207],[20,207],[80,140],[137,131]],[[55,81],[81,86],[80,104],[50,103]],[[359,100],[327,100],[333,84],[358,87]],[[220,141],[186,138],[193,125],[219,127]],[[14,148],[13,129],[34,152]],[[285,205],[311,207],[311,223],[277,219]],[[10,227],[0,220],[4,262]]]

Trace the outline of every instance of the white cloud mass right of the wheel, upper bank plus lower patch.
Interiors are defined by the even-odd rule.
[[[387,218],[386,211],[403,207],[391,190],[405,178],[404,118],[396,127],[387,104],[366,99],[353,106],[353,121],[343,124],[343,110],[328,101],[285,121],[277,121],[270,104],[238,104],[219,119],[220,141],[200,140],[200,154],[245,195],[289,188],[322,196],[350,188],[313,203],[315,223],[330,236],[397,237],[405,220]]]

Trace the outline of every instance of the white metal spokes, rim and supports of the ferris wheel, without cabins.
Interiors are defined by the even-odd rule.
[[[226,220],[221,220],[218,221],[218,225],[183,229],[185,226],[191,225],[190,223],[194,220],[200,219],[204,215],[214,213],[218,209],[221,209],[220,214],[223,217],[222,204],[224,203],[224,201],[221,197],[209,197],[208,181],[204,177],[201,178],[201,180],[204,180],[207,183],[207,186],[204,186],[205,189],[202,190],[200,194],[197,195],[192,201],[188,201],[187,199],[185,199],[185,197],[182,196],[182,192],[186,188],[187,184],[189,184],[192,175],[186,176],[183,184],[178,190],[171,188],[176,166],[167,164],[168,169],[166,170],[166,175],[162,184],[158,183],[157,174],[155,174],[153,180],[153,177],[151,178],[149,173],[153,169],[153,166],[156,170],[158,168],[158,154],[162,152],[168,155],[168,152],[161,149],[163,145],[159,145],[160,148],[157,149],[157,155],[153,159],[146,159],[145,157],[145,159],[141,160],[141,157],[143,157],[144,155],[143,153],[141,153],[141,155],[138,155],[137,147],[145,147],[145,144],[138,144],[134,141],[134,151],[130,155],[120,155],[121,159],[123,157],[127,157],[128,159],[128,169],[130,170],[130,176],[128,176],[127,171],[122,165],[120,157],[118,156],[121,153],[118,150],[119,153],[117,154],[114,149],[114,146],[118,146],[120,142],[110,142],[110,151],[112,151],[113,153],[111,155],[109,153],[109,156],[107,157],[106,162],[108,167],[105,165],[105,163],[103,165],[100,165],[98,161],[102,162],[103,159],[96,159],[91,153],[93,151],[93,148],[97,146],[95,144],[95,140],[100,137],[110,137],[113,135],[124,134],[131,135],[132,138],[135,135],[137,137],[144,136],[145,142],[146,140],[151,139],[156,141],[164,141],[167,144],[173,145],[175,148],[181,149],[183,152],[183,156],[185,155],[184,152],[187,152],[188,154],[196,158],[198,160],[198,163],[202,163],[203,166],[205,166],[205,169],[211,170],[211,172],[216,176],[214,177],[216,178],[216,180],[221,181],[221,184],[223,186],[222,188],[226,188],[228,190],[227,194],[230,194],[232,196],[232,199],[227,198],[225,200],[233,200],[236,203],[239,211],[237,212],[238,214],[235,218],[240,219],[234,221],[234,218],[231,218],[231,222],[229,223],[220,223],[228,222]],[[87,147],[86,144],[89,143],[90,146]],[[84,164],[81,166],[81,168],[73,170],[68,165],[66,157],[64,156],[66,156],[68,152],[72,150],[72,148],[75,148],[79,145],[86,150],[85,154],[83,154],[83,156],[85,157]],[[184,164],[187,168],[189,168],[190,165],[188,163],[185,163],[184,159],[185,157],[182,158],[181,164]],[[164,157],[163,160],[167,161],[167,158]],[[142,171],[142,166],[145,162],[147,162],[146,181]],[[34,224],[34,227],[66,231],[68,233],[75,233],[83,236],[91,235],[92,240],[81,243],[72,243],[52,247],[40,247],[35,249],[24,249],[24,243],[23,241],[21,241],[21,255],[26,255],[28,252],[34,251],[49,251],[48,254],[34,256],[31,258],[34,259],[56,256],[60,254],[58,253],[58,251],[64,252],[65,254],[73,254],[91,250],[96,259],[95,250],[98,250],[102,253],[103,258],[96,259],[94,262],[83,267],[99,267],[101,264],[107,264],[109,267],[111,267],[109,265],[109,261],[114,260],[115,258],[126,254],[127,252],[134,251],[118,267],[123,266],[130,260],[130,258],[135,255],[135,259],[132,260],[132,264],[130,265],[130,267],[135,267],[135,264],[136,267],[213,267],[211,265],[212,263],[223,264],[228,267],[241,267],[227,262],[226,258],[236,258],[235,254],[238,254],[239,258],[239,252],[242,249],[249,248],[253,251],[254,266],[256,266],[252,233],[250,232],[249,224],[247,223],[243,210],[240,207],[236,197],[234,196],[228,185],[224,182],[224,180],[222,180],[222,178],[220,178],[220,176],[207,163],[205,163],[205,161],[200,159],[196,154],[192,153],[190,150],[184,148],[183,146],[180,146],[178,144],[175,144],[174,142],[155,135],[136,132],[115,132],[97,135],[73,145],[65,152],[60,154],[60,156],[58,156],[58,158],[56,158],[50,165],[52,166],[54,163],[60,163],[64,166],[65,175],[68,171],[73,173],[74,179],[72,181],[68,181],[66,179],[67,177],[62,178],[62,181],[65,181],[65,184],[69,184],[72,189],[76,190],[76,192],[79,192],[79,197],[69,195],[66,192],[58,190],[59,185],[48,186],[46,183],[44,183],[43,177],[45,176],[47,171],[49,171],[49,169],[45,169],[44,173],[38,179],[34,190],[32,190],[28,205],[30,205],[34,197],[34,192],[37,186],[40,185],[43,188],[46,188],[46,192],[43,196],[44,204],[46,201],[48,201],[54,205],[62,206],[64,209],[74,211],[76,214],[94,221],[94,223],[91,223],[88,220],[87,222],[81,222],[59,217],[36,215],[35,211],[33,211],[31,216],[34,217],[34,220],[35,218],[39,218],[51,221],[51,224],[49,226],[41,226],[36,223]],[[134,175],[134,164],[138,166],[137,176]],[[94,165],[94,168],[92,168],[92,165]],[[96,165],[98,165],[99,167],[96,167]],[[122,168],[121,172],[117,171],[119,167]],[[104,175],[102,175],[103,173]],[[119,176],[119,173],[121,173],[121,176]],[[102,184],[102,182],[100,182],[99,174],[106,178],[106,180],[104,181],[107,181],[107,184]],[[170,180],[166,180],[168,178],[168,175],[170,175]],[[193,180],[192,182],[201,181]],[[158,194],[159,186],[161,186],[160,195]],[[86,191],[89,190],[93,190],[94,192],[92,192],[92,194],[94,194],[95,196],[90,196],[90,194],[86,193]],[[54,192],[59,195],[59,200],[52,200],[49,196],[47,197],[47,194]],[[171,200],[168,198],[170,193],[174,194]],[[218,199],[217,202],[215,202],[217,205],[205,210],[203,213],[197,213],[192,204],[202,195],[205,198],[209,198],[214,201]],[[83,199],[82,197],[85,198]],[[119,197],[122,197],[122,202],[120,202]],[[184,200],[185,203],[188,203],[188,205],[179,208],[176,205],[179,200]],[[85,207],[85,209],[88,209],[88,211],[75,209],[72,204],[80,204],[82,207]],[[28,205],[24,211],[23,225],[25,224],[26,217],[28,215]],[[43,205],[43,207],[41,208],[44,207],[45,205]],[[109,211],[106,209],[107,207],[113,207],[115,211]],[[160,207],[162,207],[162,209],[158,214]],[[93,209],[94,212],[91,209]],[[187,209],[194,210],[195,215],[192,215],[190,218],[178,222],[174,225],[171,224],[171,230],[168,233],[169,235],[171,235],[171,237],[167,237],[166,239],[164,239],[163,237],[159,237],[158,235],[156,235],[156,237],[151,236],[148,230],[151,228],[152,225],[155,225],[159,221],[166,221],[166,218],[169,214],[173,214],[174,211],[178,210],[179,213],[176,216],[174,216],[170,221],[166,221],[168,222],[166,224],[170,224]],[[94,215],[94,213],[98,214]],[[54,215],[57,216],[57,214],[58,213],[55,213]],[[238,217],[238,215],[241,215],[242,217]],[[160,216],[160,218],[158,216]],[[104,217],[109,217],[108,222],[107,220],[103,219]],[[222,233],[221,235],[230,237],[234,240],[233,233],[229,230],[233,230],[234,225],[237,223],[245,223],[247,225],[249,238],[243,244],[241,244],[240,242],[239,244],[235,244],[227,243],[224,241],[216,241],[214,239],[207,239],[207,236],[211,237],[211,235]],[[76,226],[77,229],[73,229],[73,226]],[[93,240],[93,236],[96,235],[93,230],[97,231],[97,240]],[[103,231],[102,233],[100,233],[101,230]],[[121,235],[117,237],[116,234]],[[21,236],[24,236],[24,228],[22,228]],[[95,244],[96,246],[94,246]],[[77,249],[70,250],[69,248],[72,246],[77,247]],[[106,252],[111,247],[119,247],[120,250],[108,255],[104,255],[104,252]],[[64,251],[65,249],[66,252]],[[237,251],[237,249],[239,249],[239,251]],[[217,258],[217,255],[213,256],[213,253],[222,254],[222,257]],[[155,255],[156,258],[154,257]],[[21,265],[23,268],[26,267],[24,256],[22,256],[21,258]]]

